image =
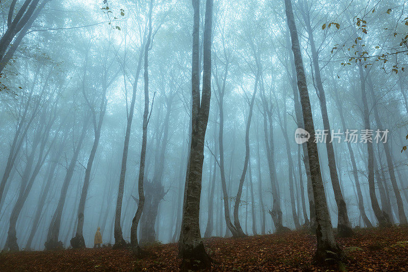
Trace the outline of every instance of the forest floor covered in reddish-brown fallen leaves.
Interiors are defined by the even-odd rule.
[[[341,248],[354,251],[343,261],[347,271],[408,271],[408,227],[359,229],[350,238],[337,238]],[[245,238],[205,239],[223,271],[326,271],[338,265],[317,266],[313,261],[316,237],[304,231]],[[177,244],[155,243],[149,254],[136,259],[130,250],[111,248],[17,252],[0,254],[0,271],[177,271]]]

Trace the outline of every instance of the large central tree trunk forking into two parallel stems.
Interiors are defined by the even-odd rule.
[[[192,58],[192,133],[188,183],[183,211],[182,240],[183,271],[211,269],[211,260],[201,240],[199,209],[201,194],[204,138],[207,130],[211,99],[211,44],[213,0],[206,1],[205,27],[203,33],[202,96],[199,90],[199,9],[200,1],[193,0],[193,58]],[[201,100],[201,101],[200,101]]]

